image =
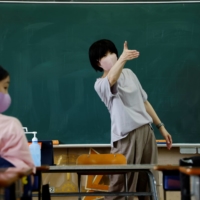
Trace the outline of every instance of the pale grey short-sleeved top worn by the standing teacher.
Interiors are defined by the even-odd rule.
[[[110,112],[111,145],[144,124],[152,123],[144,102],[147,94],[136,75],[123,69],[118,81],[110,87],[108,78],[98,78],[95,90]]]

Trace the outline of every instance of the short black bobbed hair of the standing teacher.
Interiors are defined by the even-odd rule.
[[[118,57],[118,51],[114,43],[107,39],[102,39],[94,42],[89,48],[89,58],[92,67],[96,71],[102,72],[103,69],[99,67],[99,60],[103,58],[108,52],[115,53]]]

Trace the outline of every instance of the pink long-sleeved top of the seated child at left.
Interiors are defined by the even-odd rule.
[[[0,157],[15,167],[34,167],[28,142],[18,119],[0,114]]]

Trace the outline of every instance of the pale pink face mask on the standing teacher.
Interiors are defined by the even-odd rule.
[[[109,71],[112,66],[117,62],[117,56],[115,53],[109,54],[100,61],[100,67],[105,71]]]

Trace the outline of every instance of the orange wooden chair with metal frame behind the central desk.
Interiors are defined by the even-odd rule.
[[[77,165],[99,165],[99,164],[127,164],[126,157],[122,154],[83,154],[80,155],[76,160]],[[111,174],[111,173],[101,173],[103,175]],[[127,192],[127,173],[125,172],[113,172],[112,174],[124,174],[124,186],[125,191]],[[81,175],[94,175],[94,173],[78,173],[78,190],[80,192],[80,179]],[[106,185],[93,185],[93,191],[104,189]],[[107,187],[108,188],[108,187]],[[125,197],[127,199],[127,197]]]

